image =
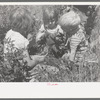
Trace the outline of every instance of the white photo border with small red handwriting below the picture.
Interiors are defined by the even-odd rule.
[[[1,2],[0,5],[100,5],[100,2]],[[56,85],[52,85],[56,84]],[[99,82],[0,83],[0,98],[100,98]]]

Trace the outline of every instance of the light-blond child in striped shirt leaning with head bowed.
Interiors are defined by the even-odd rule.
[[[74,11],[67,12],[59,18],[59,24],[63,31],[69,35],[67,43],[70,43],[69,60],[74,61],[77,47],[85,41],[84,31],[80,26],[81,19]],[[67,46],[67,43],[65,46]]]

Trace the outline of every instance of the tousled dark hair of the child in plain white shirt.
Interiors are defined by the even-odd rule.
[[[31,13],[22,7],[15,8],[9,17],[12,30],[27,36],[34,29],[35,19]]]

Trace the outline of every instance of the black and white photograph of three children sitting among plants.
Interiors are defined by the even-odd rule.
[[[0,82],[99,82],[100,5],[0,5]]]

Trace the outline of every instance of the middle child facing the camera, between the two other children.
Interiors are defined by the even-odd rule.
[[[53,7],[43,9],[43,24],[36,35],[36,42],[46,44],[57,53],[63,41],[63,30],[57,24],[58,12]],[[60,50],[59,50],[60,51]],[[55,56],[59,56],[55,54]]]

